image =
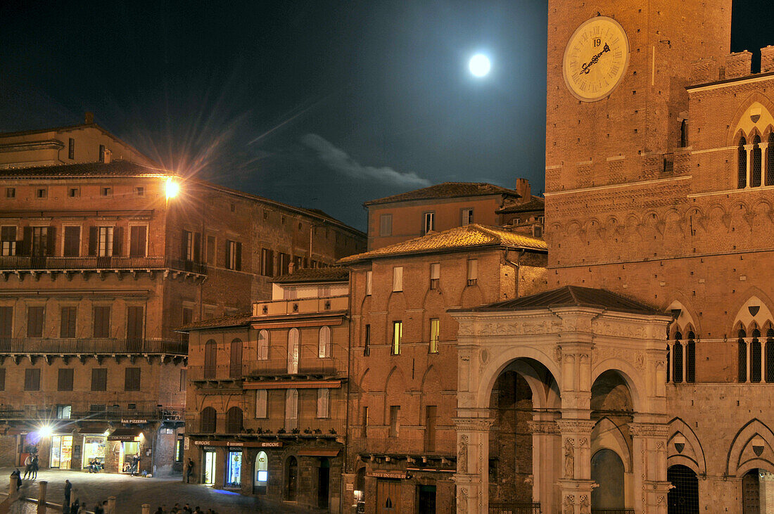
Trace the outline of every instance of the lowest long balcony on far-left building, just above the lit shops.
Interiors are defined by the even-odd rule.
[[[57,405],[21,405],[4,403],[0,420],[41,421],[182,421],[183,407],[162,406],[156,402],[137,402],[134,409],[102,403],[60,403]],[[69,411],[63,407],[70,407]]]

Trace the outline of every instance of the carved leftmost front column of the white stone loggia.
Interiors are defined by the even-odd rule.
[[[457,514],[489,511],[488,417],[455,417],[457,427]]]

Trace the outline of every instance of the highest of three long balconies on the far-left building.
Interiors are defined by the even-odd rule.
[[[207,265],[169,257],[0,257],[0,273],[83,273],[87,271],[168,271],[206,275]]]

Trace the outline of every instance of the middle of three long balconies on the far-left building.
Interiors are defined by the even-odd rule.
[[[148,355],[187,356],[188,345],[172,339],[2,338],[0,355]]]

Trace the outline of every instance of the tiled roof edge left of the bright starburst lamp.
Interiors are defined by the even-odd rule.
[[[80,162],[77,164],[36,166],[34,168],[8,168],[0,170],[0,178],[15,177],[81,177],[111,176],[135,177],[148,175],[176,175],[163,168],[153,168],[129,161]]]

